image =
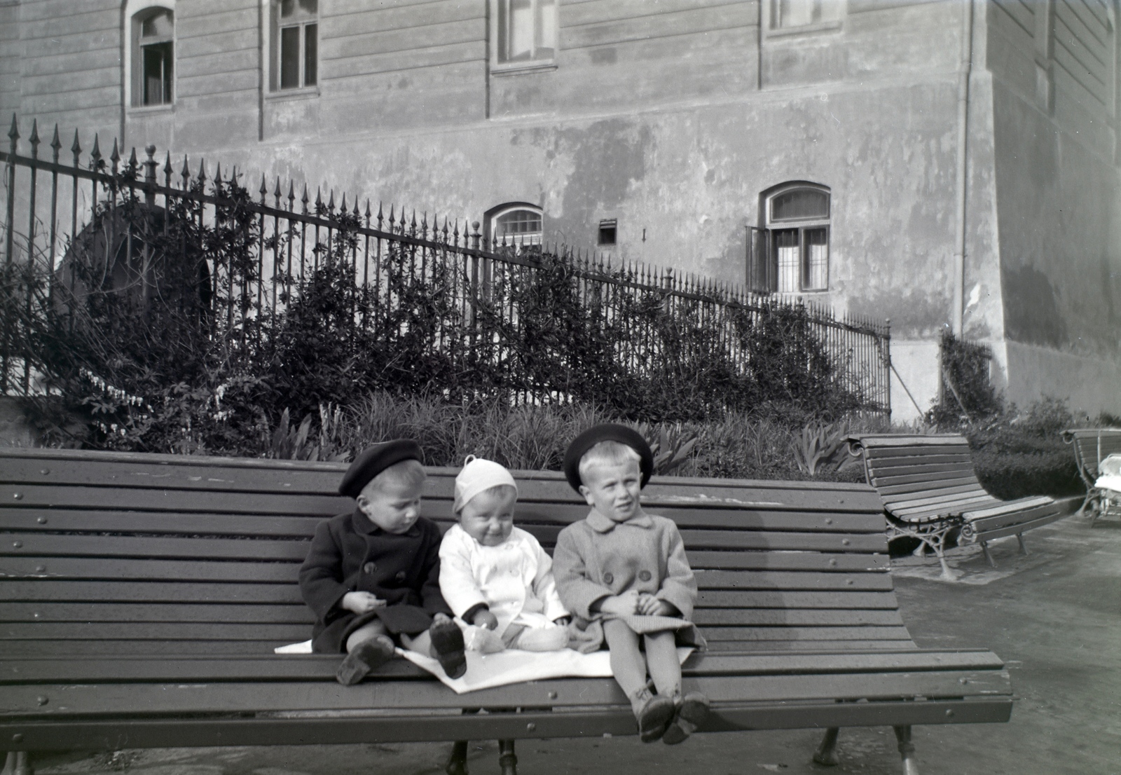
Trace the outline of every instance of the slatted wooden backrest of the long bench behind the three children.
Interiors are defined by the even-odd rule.
[[[353,507],[345,465],[53,450],[0,452],[0,648],[12,654],[268,654],[311,634],[296,575],[321,519]],[[424,510],[452,524],[456,470]],[[515,472],[517,524],[547,551],[587,506]],[[911,648],[887,574],[882,502],[822,482],[656,478],[714,651]]]

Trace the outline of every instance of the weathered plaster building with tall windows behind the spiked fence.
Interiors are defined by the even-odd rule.
[[[897,419],[947,327],[1121,414],[1117,11],[0,0],[0,111],[890,319]]]

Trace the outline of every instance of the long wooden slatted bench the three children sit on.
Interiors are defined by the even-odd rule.
[[[17,775],[47,750],[634,734],[611,679],[456,695],[397,659],[362,684],[306,639],[296,574],[316,523],[351,507],[344,465],[172,455],[0,452],[0,741]],[[452,469],[425,513],[452,519]],[[559,473],[517,472],[517,522],[550,548],[587,507]],[[1007,721],[1008,672],[986,651],[923,649],[887,573],[882,505],[863,485],[655,478],[677,520],[711,649],[684,665],[702,731]],[[464,709],[507,712],[469,714]]]

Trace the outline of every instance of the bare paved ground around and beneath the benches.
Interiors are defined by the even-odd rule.
[[[1121,523],[1078,517],[994,543],[1000,569],[955,550],[962,582],[933,561],[896,570],[905,619],[920,646],[984,646],[1012,673],[1019,701],[1007,725],[917,727],[923,775],[1121,774]],[[700,735],[668,748],[637,738],[524,741],[524,775],[824,775],[901,772],[890,729],[842,730],[841,765],[810,763],[810,730]],[[444,745],[303,746],[73,754],[43,758],[39,775],[421,775],[443,772]],[[494,744],[472,751],[474,775],[498,773]]]

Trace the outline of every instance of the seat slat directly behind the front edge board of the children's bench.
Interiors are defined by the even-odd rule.
[[[964,683],[963,683],[964,681]],[[713,702],[751,698],[752,701],[797,701],[821,699],[906,699],[921,695],[991,696],[1011,691],[1006,671],[945,671],[847,673],[831,675],[698,676],[691,688],[703,691]],[[555,693],[555,698],[549,696]],[[41,704],[38,698],[46,696]],[[54,702],[52,703],[52,699]],[[618,704],[624,702],[614,682],[560,679],[510,684],[472,692],[471,702],[487,708],[527,705],[565,707]],[[52,707],[54,704],[55,707]],[[145,713],[269,712],[331,708],[408,709],[462,708],[464,700],[435,681],[365,682],[340,691],[326,682],[302,683],[293,692],[284,683],[152,683],[152,684],[45,684],[16,685],[0,698],[0,714],[24,718],[66,714],[102,716]]]

